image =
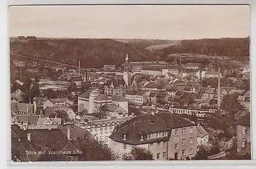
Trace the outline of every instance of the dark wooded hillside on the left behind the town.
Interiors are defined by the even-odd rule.
[[[121,65],[126,53],[132,61],[156,60],[145,49],[112,39],[41,39],[12,40],[10,51],[13,54],[33,56],[51,61],[82,67],[103,67],[104,64]]]

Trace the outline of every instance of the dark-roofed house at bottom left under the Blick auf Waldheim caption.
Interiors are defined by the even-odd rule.
[[[70,129],[66,135],[60,129],[23,130],[12,125],[11,131],[12,157],[16,161],[76,161],[82,153],[67,137]]]

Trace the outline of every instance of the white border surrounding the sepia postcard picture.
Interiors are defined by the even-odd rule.
[[[256,89],[254,89],[252,86],[253,84],[256,84],[256,78],[254,78],[253,66],[256,64],[256,58],[252,57],[254,54],[256,54],[256,1],[254,0],[194,0],[194,1],[168,1],[168,0],[161,0],[161,1],[154,1],[154,0],[148,0],[148,1],[142,1],[142,0],[130,0],[130,1],[114,1],[114,0],[108,0],[108,1],[82,1],[82,0],[46,0],[46,1],[40,1],[40,0],[9,0],[9,1],[1,1],[1,8],[0,8],[0,20],[2,21],[2,24],[0,26],[0,52],[2,55],[0,62],[0,68],[2,69],[2,83],[1,87],[3,91],[6,91],[6,95],[1,95],[1,105],[3,108],[2,112],[2,123],[0,123],[1,127],[1,136],[6,137],[6,139],[1,139],[1,146],[2,149],[4,148],[5,152],[1,153],[1,168],[6,168],[6,164],[9,165],[11,168],[45,168],[45,167],[59,167],[65,166],[65,168],[91,168],[91,167],[100,167],[100,168],[120,168],[120,167],[130,167],[130,168],[138,168],[138,167],[146,167],[146,168],[169,168],[169,167],[175,167],[175,168],[226,168],[226,167],[232,167],[232,168],[256,168],[256,146],[251,144],[251,157],[255,160],[210,160],[210,161],[77,161],[77,162],[31,162],[31,163],[25,163],[25,162],[12,162],[8,161],[8,156],[10,153],[8,153],[8,146],[10,145],[10,132],[8,128],[9,124],[9,118],[8,118],[8,110],[10,108],[10,104],[8,101],[9,95],[10,95],[10,89],[9,89],[9,35],[8,35],[8,6],[10,5],[250,5],[250,12],[251,12],[251,121],[256,122],[256,115],[254,114],[254,107],[252,105],[254,101],[254,97],[256,96]],[[253,29],[254,28],[254,29]],[[256,66],[256,65],[255,65]],[[255,71],[256,72],[256,71]],[[8,82],[8,83],[5,83]],[[7,96],[7,97],[6,97]],[[8,122],[8,123],[6,123]],[[255,124],[256,125],[256,124]],[[7,135],[6,135],[6,131]],[[256,141],[256,135],[253,133],[256,133],[256,127],[251,125],[251,133],[252,133],[252,142]],[[0,136],[0,137],[1,137]],[[7,153],[9,154],[7,156]],[[61,167],[63,168],[63,167]]]

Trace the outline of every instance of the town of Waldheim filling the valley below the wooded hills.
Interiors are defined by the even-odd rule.
[[[248,61],[120,57],[95,68],[11,53],[12,160],[250,159]]]

